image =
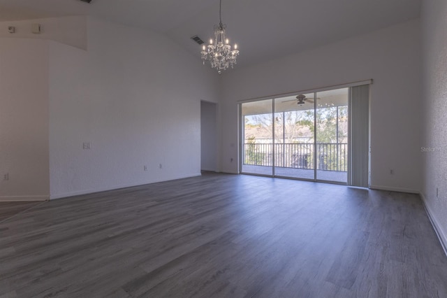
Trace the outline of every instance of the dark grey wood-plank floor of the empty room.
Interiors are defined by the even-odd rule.
[[[418,195],[206,173],[3,220],[0,297],[447,297],[447,257]]]

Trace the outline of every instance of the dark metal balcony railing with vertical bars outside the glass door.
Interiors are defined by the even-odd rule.
[[[292,169],[314,169],[313,143],[244,143],[244,164],[273,166]],[[347,143],[316,143],[316,169],[347,171]]]

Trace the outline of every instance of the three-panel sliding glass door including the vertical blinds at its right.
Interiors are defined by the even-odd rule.
[[[368,103],[358,85],[241,104],[241,172],[367,187]]]

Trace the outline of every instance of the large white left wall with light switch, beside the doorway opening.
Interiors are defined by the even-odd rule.
[[[147,30],[89,18],[87,32],[87,51],[50,43],[51,197],[200,175],[217,74]]]

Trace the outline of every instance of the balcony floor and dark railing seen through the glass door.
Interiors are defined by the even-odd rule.
[[[314,179],[316,149],[316,172],[318,180],[347,182],[347,143],[245,143],[242,171],[271,175],[273,160],[275,175],[292,178]]]

